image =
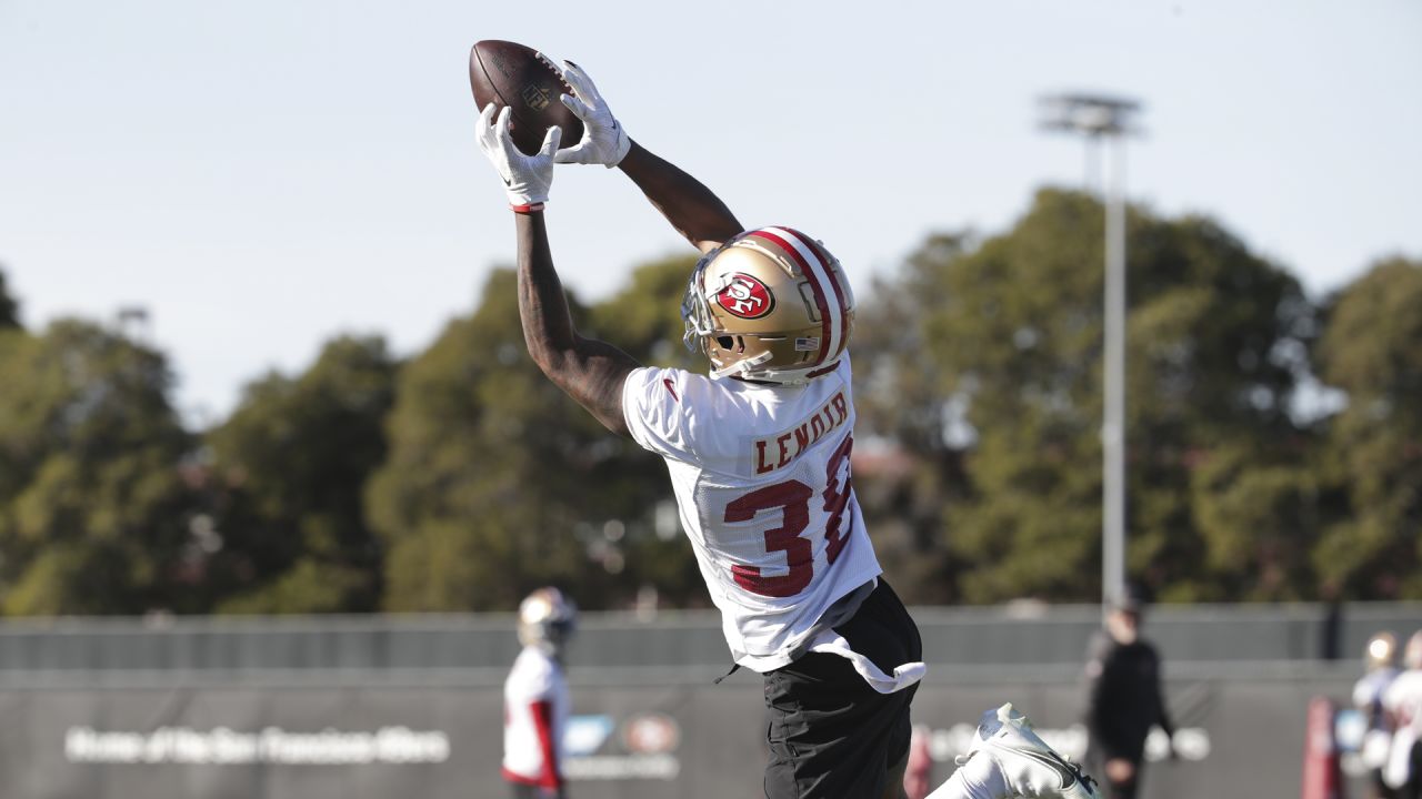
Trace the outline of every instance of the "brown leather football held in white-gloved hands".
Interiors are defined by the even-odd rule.
[[[583,122],[557,97],[573,94],[562,73],[532,47],[488,38],[469,51],[469,85],[482,109],[495,104],[509,111],[509,135],[525,155],[543,145],[543,135],[553,125],[563,128],[559,146],[572,146],[583,138]]]

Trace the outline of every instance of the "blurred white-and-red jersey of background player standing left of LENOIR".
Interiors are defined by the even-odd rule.
[[[547,702],[556,762],[546,762],[536,702]],[[538,647],[523,647],[503,681],[503,778],[529,785],[553,786],[562,775],[563,731],[567,729],[567,680],[563,667]]]

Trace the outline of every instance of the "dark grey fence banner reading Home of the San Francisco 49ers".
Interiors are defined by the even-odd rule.
[[[579,684],[567,729],[574,799],[759,796],[761,681]],[[1170,681],[1175,759],[1149,745],[1146,798],[1297,796],[1304,726],[1322,680]],[[934,783],[987,708],[1012,701],[1062,754],[1081,758],[1082,690],[1064,682],[920,687]],[[479,799],[499,779],[498,687],[0,688],[0,798]]]

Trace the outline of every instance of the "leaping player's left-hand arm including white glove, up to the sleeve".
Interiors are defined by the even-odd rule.
[[[509,109],[493,119],[493,105],[479,115],[479,148],[493,163],[515,212],[518,232],[519,318],[529,355],[579,405],[607,429],[630,435],[621,388],[636,360],[621,350],[577,334],[563,283],[553,267],[543,205],[553,183],[553,151],[562,132],[550,128],[538,155],[523,155],[509,138]]]

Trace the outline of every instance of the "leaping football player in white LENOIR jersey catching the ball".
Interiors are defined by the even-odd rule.
[[[855,296],[822,242],[747,230],[701,182],[631,141],[593,81],[565,63],[584,127],[532,156],[509,109],[483,108],[479,145],[515,213],[519,314],[539,368],[607,429],[660,455],[735,668],[764,675],[765,793],[903,796],[919,631],[883,580],[850,478]],[[710,374],[644,367],[573,327],[543,208],[555,162],[619,168],[702,257],[681,304]],[[1025,752],[1025,754],[1024,754]],[[1010,705],[940,799],[1095,796]]]

